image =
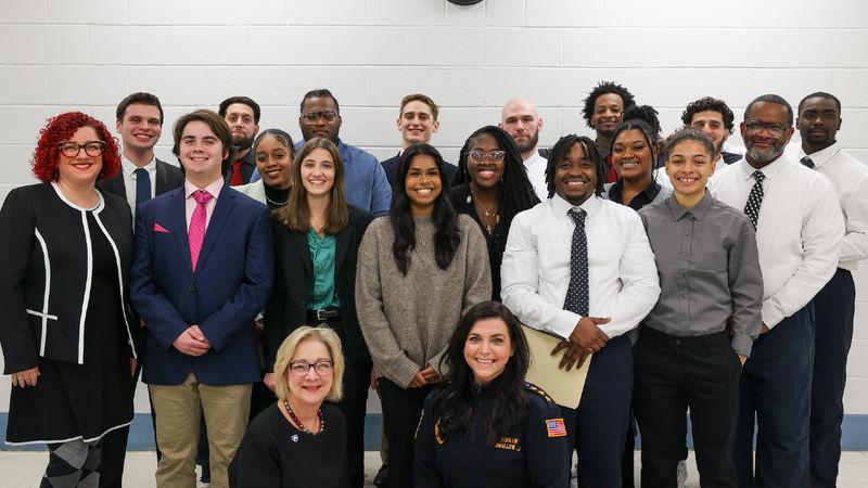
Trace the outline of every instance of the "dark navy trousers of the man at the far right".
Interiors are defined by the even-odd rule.
[[[839,268],[814,297],[814,385],[810,391],[810,486],[834,487],[841,460],[841,422],[856,287]]]

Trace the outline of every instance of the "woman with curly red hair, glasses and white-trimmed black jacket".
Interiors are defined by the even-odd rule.
[[[132,222],[124,198],[95,189],[119,167],[102,123],[58,115],[34,151],[42,182],[0,209],[7,442],[48,445],[42,487],[97,486],[102,437],[132,421]]]

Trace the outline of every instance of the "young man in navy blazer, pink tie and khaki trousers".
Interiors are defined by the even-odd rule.
[[[148,325],[142,378],[163,453],[156,481],[195,486],[203,412],[212,486],[227,487],[251,385],[259,381],[253,321],[273,278],[271,219],[264,205],[225,184],[232,137],[219,115],[187,114],[174,136],[184,183],[139,207],[130,280],[132,304]]]

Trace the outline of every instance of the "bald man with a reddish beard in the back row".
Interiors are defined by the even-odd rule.
[[[515,141],[519,152],[522,153],[527,179],[534,185],[534,191],[539,201],[545,202],[549,196],[549,189],[546,185],[546,165],[548,162],[536,149],[539,142],[539,131],[542,129],[542,118],[536,111],[536,105],[522,98],[510,100],[500,112],[500,124],[498,126],[506,130]]]

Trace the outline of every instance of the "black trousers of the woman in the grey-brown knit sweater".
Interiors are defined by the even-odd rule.
[[[383,406],[383,429],[388,439],[388,474],[386,487],[409,488],[413,484],[413,441],[425,397],[433,386],[401,388],[380,377],[380,399]]]

